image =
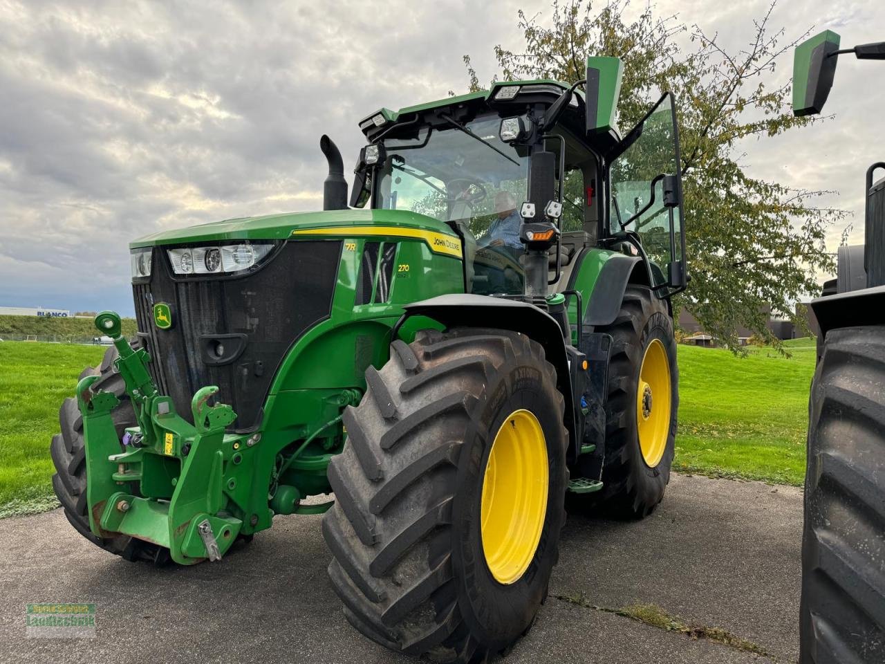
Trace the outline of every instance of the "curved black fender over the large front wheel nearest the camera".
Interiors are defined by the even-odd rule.
[[[620,305],[620,300],[619,300]],[[526,302],[490,297],[488,295],[453,294],[431,297],[404,306],[405,313],[396,323],[396,330],[410,316],[427,316],[446,328],[499,328],[520,332],[544,348],[547,361],[556,368],[557,389],[566,398],[565,425],[569,445],[580,444],[575,421],[572,379],[569,373],[566,340],[562,328],[549,313]]]

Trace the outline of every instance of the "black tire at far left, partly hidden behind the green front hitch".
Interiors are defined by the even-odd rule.
[[[122,376],[114,370],[114,359],[117,359],[117,349],[112,346],[104,353],[99,367],[86,367],[80,377],[100,375],[101,378],[94,383],[93,389],[113,392],[120,399],[119,406],[112,412],[112,418],[117,436],[121,438],[127,427],[135,426],[135,413],[126,393],[126,384]],[[65,510],[67,520],[83,537],[107,552],[126,560],[164,564],[169,558],[169,550],[164,547],[127,536],[96,537],[89,529],[83,417],[75,398],[66,398],[62,403],[58,411],[58,422],[61,433],[52,436],[50,444],[52,462],[56,467],[56,474],[52,475],[52,489]]]

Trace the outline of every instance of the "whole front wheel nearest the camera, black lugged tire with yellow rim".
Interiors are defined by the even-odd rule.
[[[366,637],[439,662],[484,660],[531,626],[558,560],[556,372],[539,344],[502,330],[423,331],[390,356],[366,372],[329,466],[329,576]]]

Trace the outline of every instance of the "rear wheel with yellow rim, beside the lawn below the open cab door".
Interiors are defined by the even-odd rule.
[[[603,490],[575,498],[585,508],[602,503],[614,516],[641,519],[670,482],[679,409],[673,320],[650,288],[631,285],[612,325],[596,331],[612,335]]]

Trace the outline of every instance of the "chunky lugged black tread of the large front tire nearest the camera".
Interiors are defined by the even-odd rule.
[[[381,645],[460,664],[489,656],[458,608],[443,543],[451,537],[458,436],[489,375],[522,354],[540,358],[546,375],[556,375],[543,348],[519,333],[422,330],[412,344],[391,344],[388,364],[367,381],[361,404],[345,413],[348,439],[329,472],[336,504],[323,520],[333,555],[329,579],[348,621]],[[394,401],[396,420],[385,417]],[[561,525],[564,511],[559,519]]]

